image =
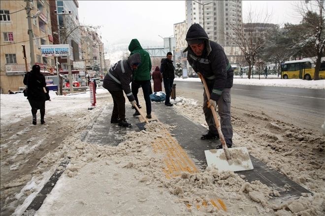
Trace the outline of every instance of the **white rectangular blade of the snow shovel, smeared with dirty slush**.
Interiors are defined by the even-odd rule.
[[[231,160],[227,161],[224,149],[205,150],[205,158],[209,167],[221,171],[242,171],[254,169],[246,147],[228,148]]]

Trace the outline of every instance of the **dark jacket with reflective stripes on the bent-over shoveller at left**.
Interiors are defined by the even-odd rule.
[[[140,64],[140,54],[131,55],[128,60],[120,60],[116,62],[104,77],[103,87],[109,91],[123,90],[129,101],[134,101],[131,92],[130,82],[132,81],[133,64]]]

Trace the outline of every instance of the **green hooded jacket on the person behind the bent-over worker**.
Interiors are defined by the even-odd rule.
[[[147,81],[150,80],[151,60],[147,51],[143,50],[137,39],[132,39],[129,45],[130,55],[138,53],[141,56],[141,63],[134,71],[134,81]]]

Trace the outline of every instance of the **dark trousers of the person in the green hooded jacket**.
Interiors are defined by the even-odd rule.
[[[142,87],[143,97],[144,97],[144,100],[146,101],[147,114],[151,114],[151,100],[150,100],[151,81],[150,80],[132,81],[131,90],[132,90],[134,99],[136,101],[136,105],[139,105],[139,100],[138,100],[137,94],[139,92],[140,87]]]

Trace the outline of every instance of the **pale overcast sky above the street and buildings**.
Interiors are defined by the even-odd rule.
[[[173,24],[185,20],[184,0],[79,0],[79,21],[83,25],[101,26],[99,33],[107,46],[130,43],[137,38],[141,45],[158,46],[163,44],[162,37],[173,35]],[[243,0],[243,19],[252,11],[271,14],[269,23],[297,24],[294,1]],[[160,44],[159,44],[160,43]],[[107,49],[107,48],[106,48]]]

